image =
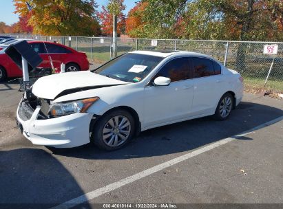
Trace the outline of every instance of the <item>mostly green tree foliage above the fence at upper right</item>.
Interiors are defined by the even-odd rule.
[[[282,41],[282,0],[143,0],[138,38]]]

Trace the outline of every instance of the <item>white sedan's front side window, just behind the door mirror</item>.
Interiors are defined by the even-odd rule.
[[[186,80],[191,78],[191,72],[189,69],[189,58],[176,58],[163,66],[156,76],[154,76],[153,80],[159,76],[170,78],[171,82]]]

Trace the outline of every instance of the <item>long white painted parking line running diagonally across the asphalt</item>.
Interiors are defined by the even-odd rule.
[[[271,124],[274,124],[275,122],[279,122],[280,120],[283,120],[283,116],[281,116],[280,118],[275,118],[274,120],[271,120],[269,122],[265,122],[264,124],[260,124],[259,126],[256,126],[253,129],[250,129],[248,131],[244,131],[243,133],[240,133],[239,135],[235,135],[233,137],[229,137],[229,138],[220,140],[218,142],[214,142],[213,144],[209,144],[209,145],[204,146],[202,148],[198,148],[196,151],[192,151],[191,153],[181,155],[180,157],[176,157],[176,158],[171,159],[167,162],[163,162],[162,164],[158,164],[157,166],[154,166],[152,168],[148,168],[147,170],[143,170],[140,173],[136,173],[135,175],[126,177],[125,179],[121,179],[120,181],[116,181],[112,184],[108,184],[107,186],[103,186],[102,188],[98,188],[98,189],[93,190],[91,192],[87,192],[85,195],[81,195],[81,196],[76,197],[74,199],[71,199],[69,201],[65,201],[64,203],[61,203],[60,205],[55,206],[52,209],[72,208],[72,207],[77,206],[81,203],[85,203],[86,201],[89,201],[90,199],[94,199],[96,197],[104,195],[107,192],[110,192],[112,190],[116,190],[117,188],[120,188],[122,186],[130,184],[134,181],[137,181],[138,179],[142,179],[143,177],[147,177],[148,175],[151,175],[151,174],[156,173],[160,170],[168,168],[169,166],[174,166],[175,164],[183,162],[186,159],[189,159],[189,158],[194,157],[196,155],[200,155],[202,153],[210,151],[211,149],[216,148],[218,146],[221,146],[223,144],[227,144],[228,142],[231,142],[231,141],[233,141],[233,140],[235,140],[239,137],[242,137],[244,135],[252,133],[253,131],[256,131],[258,129],[262,129],[265,126],[270,126]]]

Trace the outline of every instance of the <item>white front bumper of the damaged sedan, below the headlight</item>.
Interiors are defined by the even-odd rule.
[[[91,113],[43,118],[40,111],[40,106],[32,109],[27,100],[21,100],[17,109],[17,125],[32,144],[70,148],[90,142]]]

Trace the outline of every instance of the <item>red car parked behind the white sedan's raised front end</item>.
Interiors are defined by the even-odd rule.
[[[49,56],[56,69],[60,70],[61,63],[64,63],[65,72],[87,70],[90,68],[87,56],[83,52],[77,52],[65,45],[47,41],[28,41],[28,43],[43,59],[39,68],[52,68]],[[48,53],[46,52],[46,49]],[[11,58],[3,51],[4,50],[0,51],[0,81],[5,80],[6,78],[23,76],[21,69],[19,69]]]

